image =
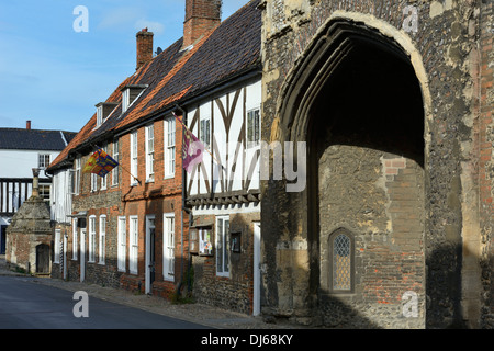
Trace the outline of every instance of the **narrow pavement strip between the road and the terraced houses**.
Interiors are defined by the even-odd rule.
[[[53,287],[64,288],[72,292],[85,291],[89,298],[96,297],[130,307],[141,308],[164,316],[179,318],[182,320],[201,324],[214,329],[296,329],[289,324],[266,322],[262,317],[252,317],[244,314],[216,308],[213,306],[187,303],[173,304],[165,298],[145,294],[90,284],[85,282],[63,281],[48,276],[31,276],[8,269],[5,256],[0,256],[0,276],[24,276],[30,278],[33,283],[45,284]]]

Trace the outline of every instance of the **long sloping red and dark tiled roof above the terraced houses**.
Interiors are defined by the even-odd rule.
[[[260,70],[261,13],[259,0],[252,0],[201,38],[190,50],[182,50],[182,38],[125,79],[106,102],[119,105],[98,127],[96,114],[67,148],[52,162],[50,169],[83,145],[90,145],[110,133],[130,127],[197,94],[233,79],[248,70]],[[122,114],[121,88],[145,84],[146,90]]]

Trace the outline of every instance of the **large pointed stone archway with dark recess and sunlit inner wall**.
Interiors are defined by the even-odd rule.
[[[308,278],[278,283],[278,296],[299,295],[278,313],[289,306],[338,327],[425,326],[428,93],[411,56],[382,31],[337,18],[287,78],[271,135],[307,143],[307,188],[287,195],[285,231],[306,235]],[[335,294],[329,238],[337,230],[353,237],[355,285]],[[401,314],[407,292],[419,296],[414,319]]]

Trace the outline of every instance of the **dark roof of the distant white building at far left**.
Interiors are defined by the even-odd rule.
[[[61,151],[76,133],[25,128],[0,128],[0,149]]]

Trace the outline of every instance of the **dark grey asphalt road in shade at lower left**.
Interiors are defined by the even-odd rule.
[[[74,297],[72,292],[36,284],[31,278],[0,276],[0,329],[209,328],[90,295],[87,305],[83,298]],[[88,317],[76,317],[75,306],[76,314],[87,312]]]

